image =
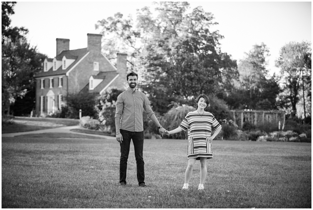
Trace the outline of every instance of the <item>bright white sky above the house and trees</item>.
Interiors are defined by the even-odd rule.
[[[224,36],[223,52],[235,60],[244,58],[255,44],[269,47],[269,72],[275,68],[279,50],[290,41],[311,42],[311,2],[189,2],[191,9],[202,6],[213,14],[214,27]],[[117,12],[132,15],[144,6],[153,10],[152,2],[17,2],[11,26],[29,30],[28,40],[40,53],[54,58],[56,38],[70,39],[70,50],[87,47],[87,34],[97,34],[98,20]]]

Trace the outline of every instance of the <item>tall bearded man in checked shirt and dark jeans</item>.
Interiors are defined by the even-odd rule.
[[[131,72],[127,74],[126,80],[129,87],[117,97],[115,112],[116,140],[120,142],[121,146],[120,186],[126,186],[127,159],[132,139],[135,149],[138,184],[140,187],[147,187],[145,184],[145,163],[142,156],[144,139],[143,110],[159,128],[162,136],[165,134],[166,129],[162,128],[157,120],[146,94],[136,89],[138,75]]]

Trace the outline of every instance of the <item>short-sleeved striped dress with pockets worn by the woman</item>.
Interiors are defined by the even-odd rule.
[[[204,112],[203,115],[198,112],[189,112],[183,119],[179,127],[184,131],[188,130],[188,159],[213,158],[212,142],[208,140],[212,126],[218,129],[221,125],[209,112]]]

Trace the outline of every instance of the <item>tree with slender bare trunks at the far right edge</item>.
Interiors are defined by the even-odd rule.
[[[288,93],[281,96],[285,107],[291,107],[291,116],[297,113],[296,105],[299,102],[299,91],[302,86],[303,106],[305,110],[306,97],[311,101],[311,43],[290,42],[280,49],[280,56],[276,60],[276,66],[280,68],[280,80],[283,89]],[[306,113],[305,113],[306,117]]]

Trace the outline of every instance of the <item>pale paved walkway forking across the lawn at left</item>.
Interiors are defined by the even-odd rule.
[[[81,134],[81,135],[87,135],[87,136],[95,136],[95,137],[100,137],[104,139],[115,139],[115,137],[113,136],[105,136],[105,135],[98,135],[98,134],[85,134],[85,133],[71,131],[71,129],[80,129],[80,126],[74,125],[74,126],[65,126],[65,127],[50,128],[50,129],[44,129],[44,130],[9,133],[9,134],[2,134],[1,137],[14,137],[14,136],[25,135],[25,134],[69,133],[69,134]]]

